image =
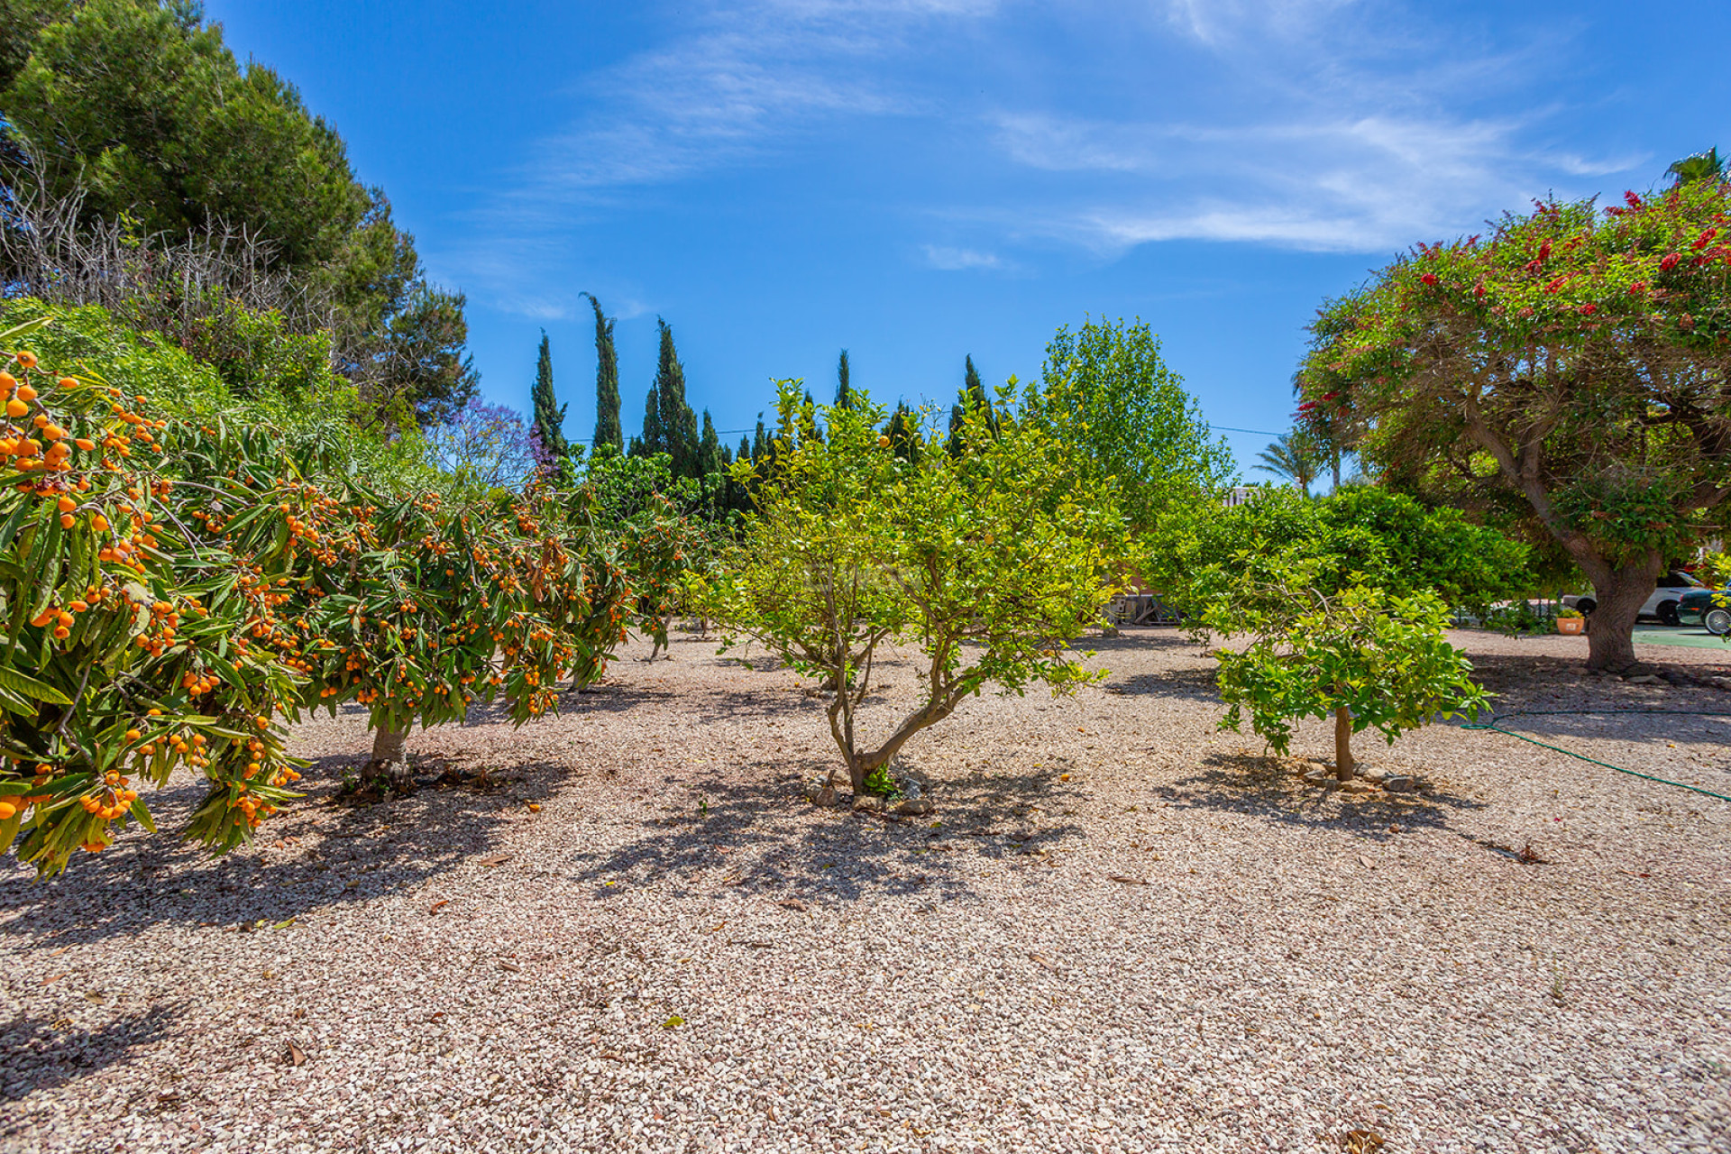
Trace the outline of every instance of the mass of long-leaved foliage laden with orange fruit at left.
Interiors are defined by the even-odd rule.
[[[249,839],[294,796],[280,720],[310,704],[405,732],[502,696],[523,721],[618,644],[625,571],[582,505],[386,500],[315,438],[199,412],[222,382],[185,355],[102,351],[183,403],[0,362],[0,844],[40,872],[154,829],[132,782],[180,766],[208,780],[185,836]]]

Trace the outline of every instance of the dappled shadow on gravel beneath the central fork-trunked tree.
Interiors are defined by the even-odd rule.
[[[819,810],[805,799],[803,782],[826,775],[834,761],[760,761],[756,768],[762,773],[750,782],[715,775],[680,780],[675,813],[644,820],[642,834],[627,846],[578,855],[573,882],[595,900],[673,877],[691,891],[725,888],[801,903],[952,901],[973,896],[954,862],[959,846],[973,856],[1007,860],[1049,851],[1078,832],[1073,824],[997,827],[1035,799],[1056,805],[1051,785],[1058,770],[943,782],[936,813],[886,818],[845,806]],[[845,782],[841,796],[846,799]]]

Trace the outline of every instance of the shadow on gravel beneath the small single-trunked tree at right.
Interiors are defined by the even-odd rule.
[[[1404,832],[1433,829],[1473,841],[1475,836],[1456,829],[1452,818],[1461,811],[1485,808],[1482,801],[1447,787],[1418,794],[1342,794],[1310,785],[1274,758],[1250,753],[1212,753],[1201,765],[1201,773],[1179,779],[1156,792],[1181,810],[1241,813],[1279,825],[1343,829],[1371,841],[1395,837],[1390,825],[1399,825]]]

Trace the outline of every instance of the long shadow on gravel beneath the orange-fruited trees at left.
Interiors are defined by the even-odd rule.
[[[43,950],[158,924],[253,931],[258,922],[277,926],[365,905],[483,856],[505,829],[507,813],[545,801],[576,775],[537,761],[502,768],[483,789],[441,789],[429,773],[409,798],[350,806],[338,801],[336,782],[317,779],[334,779],[353,763],[343,756],[315,761],[308,796],[268,822],[253,848],[220,858],[173,841],[173,830],[203,801],[204,785],[170,785],[151,798],[168,836],[132,827],[107,853],[74,856],[59,877],[0,881],[0,910],[14,914],[0,926],[0,939],[10,936],[17,950],[17,938],[35,938],[29,948]]]

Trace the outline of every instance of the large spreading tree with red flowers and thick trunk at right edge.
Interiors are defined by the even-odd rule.
[[[1667,561],[1731,493],[1731,185],[1541,202],[1418,246],[1312,325],[1305,414],[1383,478],[1503,512],[1593,581],[1589,668],[1636,664]]]

